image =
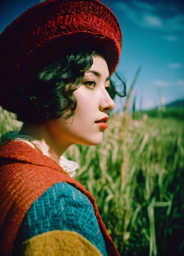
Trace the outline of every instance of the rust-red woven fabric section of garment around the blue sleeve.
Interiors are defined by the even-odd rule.
[[[0,254],[11,255],[16,234],[31,204],[58,182],[73,184],[87,195],[107,253],[118,256],[92,195],[55,161],[22,141],[11,141],[0,147]]]

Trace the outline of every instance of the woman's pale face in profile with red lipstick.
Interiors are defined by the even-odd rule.
[[[100,55],[94,55],[92,67],[85,72],[80,87],[74,91],[77,100],[74,115],[66,119],[70,113],[68,110],[59,119],[48,121],[48,128],[58,146],[101,143],[103,132],[107,128],[104,121],[107,121],[108,112],[115,106],[107,92],[110,86],[109,79],[105,59]]]

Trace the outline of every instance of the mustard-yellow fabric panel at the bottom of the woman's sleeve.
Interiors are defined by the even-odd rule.
[[[89,240],[68,230],[34,236],[22,243],[20,253],[26,256],[102,256]]]

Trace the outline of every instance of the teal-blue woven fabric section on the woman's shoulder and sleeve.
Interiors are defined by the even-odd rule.
[[[38,198],[26,213],[17,235],[17,245],[53,230],[76,231],[107,255],[105,241],[88,197],[74,186],[57,183]],[[75,241],[71,240],[71,243]]]

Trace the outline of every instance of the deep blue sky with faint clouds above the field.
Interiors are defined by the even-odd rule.
[[[1,0],[0,33],[23,11],[39,0]],[[141,66],[133,97],[136,108],[160,106],[184,98],[184,2],[183,0],[101,0],[117,16],[123,32],[118,72],[127,90]],[[116,100],[121,109],[125,99]]]

